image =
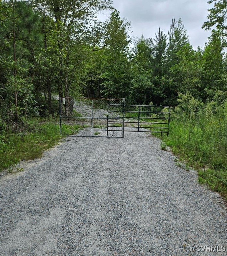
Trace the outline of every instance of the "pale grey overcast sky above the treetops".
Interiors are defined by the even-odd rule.
[[[204,47],[210,31],[202,29],[207,20],[208,0],[112,0],[121,17],[131,22],[131,37],[153,38],[159,27],[167,34],[172,18],[182,19],[194,49]],[[109,13],[110,14],[110,13]],[[108,14],[107,14],[108,15]],[[101,15],[103,20],[106,15]]]

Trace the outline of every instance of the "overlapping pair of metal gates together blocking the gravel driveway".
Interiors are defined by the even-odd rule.
[[[125,105],[125,99],[59,98],[60,133],[82,137],[118,137],[125,132],[169,135],[170,107]]]

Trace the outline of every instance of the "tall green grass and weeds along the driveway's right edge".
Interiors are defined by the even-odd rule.
[[[171,115],[167,146],[199,170],[199,182],[227,200],[227,102],[206,104],[181,95]]]

